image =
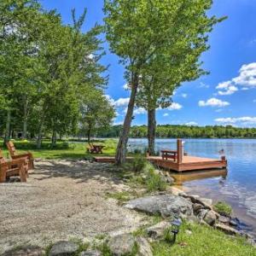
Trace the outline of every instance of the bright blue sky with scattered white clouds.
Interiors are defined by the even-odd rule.
[[[169,109],[157,111],[158,124],[256,126],[256,0],[215,0],[211,15],[227,15],[210,35],[211,49],[202,55],[203,67],[211,72],[194,82],[184,83],[173,96]],[[102,24],[103,0],[42,0],[45,9],[56,9],[64,23],[71,21],[71,9],[81,14],[88,9],[84,32]],[[108,69],[106,94],[124,119],[129,91],[124,89],[124,68],[108,51],[102,59]],[[137,109],[133,125],[147,123],[147,114]]]

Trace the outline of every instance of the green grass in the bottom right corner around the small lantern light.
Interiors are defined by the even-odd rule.
[[[191,230],[188,235],[185,230]],[[152,244],[154,256],[255,256],[256,249],[241,237],[226,236],[201,224],[186,224],[181,227],[177,241],[157,241]]]

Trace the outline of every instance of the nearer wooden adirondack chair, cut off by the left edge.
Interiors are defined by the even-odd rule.
[[[4,183],[9,177],[20,176],[20,182],[26,183],[28,177],[28,159],[20,158],[7,161],[4,159],[0,148],[0,183]]]

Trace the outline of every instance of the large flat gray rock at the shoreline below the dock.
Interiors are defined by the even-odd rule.
[[[177,195],[152,195],[128,201],[127,208],[162,217],[188,218],[193,214],[192,203]]]

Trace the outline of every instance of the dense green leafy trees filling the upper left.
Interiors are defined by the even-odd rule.
[[[38,1],[0,2],[0,134],[6,139],[10,129],[21,131],[25,138],[37,136],[40,148],[51,133],[54,148],[57,136],[76,134],[80,110],[93,96],[107,110],[96,113],[97,127],[111,124],[113,107],[103,96],[106,67],[99,62],[102,26],[82,32],[86,10],[79,19],[72,15],[73,25],[66,26]]]

